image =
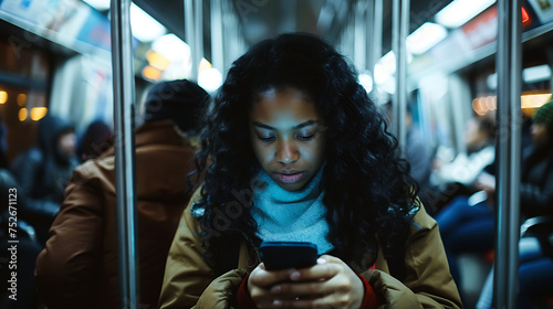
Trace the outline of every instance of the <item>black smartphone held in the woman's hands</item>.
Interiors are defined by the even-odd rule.
[[[304,242],[263,242],[259,246],[267,270],[305,268],[316,264],[316,245]]]

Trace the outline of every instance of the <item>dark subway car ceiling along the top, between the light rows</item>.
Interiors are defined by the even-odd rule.
[[[144,11],[164,24],[170,32],[185,40],[184,0],[135,0]],[[319,34],[330,42],[337,42],[344,26],[353,17],[359,1],[344,0],[233,0],[234,14],[239,17],[247,44],[288,31]],[[363,1],[373,3],[372,0]],[[411,0],[409,32],[449,4],[451,0]],[[210,1],[202,1],[205,17],[209,15]],[[383,1],[383,54],[390,50],[392,0]],[[210,55],[210,22],[204,19],[205,53]]]

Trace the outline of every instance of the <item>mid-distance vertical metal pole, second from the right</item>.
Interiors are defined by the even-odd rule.
[[[394,0],[393,2],[393,51],[396,56],[396,93],[394,94],[393,119],[399,149],[405,150],[406,128],[405,115],[407,109],[407,49],[405,41],[409,30],[409,0]]]

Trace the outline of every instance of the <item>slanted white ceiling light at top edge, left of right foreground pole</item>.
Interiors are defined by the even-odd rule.
[[[447,28],[459,28],[491,7],[495,0],[453,0],[439,11],[436,22]]]

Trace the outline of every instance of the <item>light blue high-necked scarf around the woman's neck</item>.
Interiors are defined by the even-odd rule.
[[[258,178],[267,183],[254,189],[251,214],[258,223],[258,236],[267,242],[311,242],[319,254],[328,253],[334,246],[328,242],[324,192],[321,190],[323,168],[301,191],[286,191],[264,171]]]

